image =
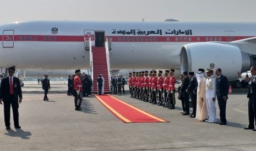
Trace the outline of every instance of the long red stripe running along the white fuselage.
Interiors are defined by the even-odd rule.
[[[111,42],[231,42],[254,36],[105,36]],[[105,39],[106,39],[105,38]],[[0,41],[3,36],[0,36]],[[9,41],[9,40],[4,40]],[[84,42],[84,36],[14,35],[15,42]]]

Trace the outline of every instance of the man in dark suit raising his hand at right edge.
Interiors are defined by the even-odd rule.
[[[252,77],[250,78],[246,76],[243,80],[240,72],[238,72],[238,77],[242,84],[249,85],[249,90],[247,94],[247,97],[249,98],[249,102],[248,102],[249,125],[244,129],[256,131],[256,129],[254,129],[254,119],[256,124],[256,66],[250,67],[250,73],[252,74]]]

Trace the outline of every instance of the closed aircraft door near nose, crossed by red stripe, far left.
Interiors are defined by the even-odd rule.
[[[14,47],[14,30],[3,31],[3,48]]]

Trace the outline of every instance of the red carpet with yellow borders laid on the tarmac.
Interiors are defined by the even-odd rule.
[[[123,102],[111,95],[96,95],[96,98],[124,123],[169,122],[142,111],[141,109]]]

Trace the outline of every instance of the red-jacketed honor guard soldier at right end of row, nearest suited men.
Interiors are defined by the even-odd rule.
[[[170,69],[170,83],[169,83],[169,99],[170,99],[170,109],[175,109],[175,83],[176,79],[174,76],[175,69]]]

